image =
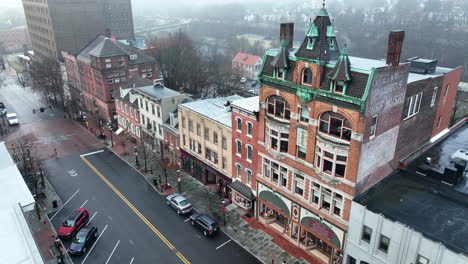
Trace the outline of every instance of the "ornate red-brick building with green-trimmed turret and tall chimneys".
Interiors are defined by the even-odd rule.
[[[400,63],[402,31],[390,33],[386,61],[349,56],[325,8],[299,48],[293,31],[281,25],[259,75],[256,217],[314,259],[341,263],[351,201],[417,149],[406,142],[414,131],[424,138],[414,144],[444,133],[452,110],[441,102],[454,100],[446,87],[461,69]]]

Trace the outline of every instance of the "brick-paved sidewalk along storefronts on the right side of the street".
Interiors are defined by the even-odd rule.
[[[90,128],[88,131],[91,133]],[[93,130],[95,132],[96,128],[93,128]],[[155,180],[159,180],[162,185],[166,184],[159,158],[148,159],[148,171],[145,172],[144,161],[141,154],[139,155],[139,167],[137,167],[135,163],[134,147],[136,146],[138,148],[137,144],[127,140],[124,151],[123,147],[118,144],[121,140],[121,136],[114,134],[114,146],[111,147],[109,131],[105,130],[104,133],[107,136],[104,143],[109,149],[120,156],[129,165],[139,170],[150,184],[153,185]],[[153,174],[150,173],[151,169],[153,169]],[[159,186],[156,186],[156,190],[161,195],[178,192],[177,168],[169,168],[167,170],[167,181],[171,186],[170,189],[162,191]],[[181,172],[180,185],[182,194],[190,200],[197,211],[211,215],[223,225],[224,219],[223,213],[221,212],[222,198],[218,196],[215,191],[183,172]],[[319,259],[314,258],[305,251],[292,245],[280,234],[266,229],[261,223],[256,221],[255,218],[246,217],[245,212],[234,204],[230,204],[226,207],[225,217],[226,225],[222,230],[263,263],[272,263],[272,260],[275,261],[274,263],[278,264],[281,264],[283,261],[286,261],[288,264],[322,263]]]

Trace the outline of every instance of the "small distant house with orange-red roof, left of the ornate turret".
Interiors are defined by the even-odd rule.
[[[243,77],[256,80],[262,67],[262,58],[259,56],[239,52],[232,59],[232,70]]]

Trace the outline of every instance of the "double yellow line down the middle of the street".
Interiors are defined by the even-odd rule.
[[[117,194],[120,199],[122,199],[122,201],[124,201],[128,207],[130,207],[130,209],[132,209],[133,212],[135,212],[135,214],[140,217],[143,222],[145,222],[145,224],[164,242],[164,244],[166,244],[172,251],[176,253],[177,257],[179,257],[183,263],[190,264],[190,262],[172,245],[172,243],[169,242],[169,240],[167,240],[167,238],[161,234],[161,232],[159,232],[159,230],[150,221],[148,221],[148,219],[146,219],[146,217],[117,188],[115,188],[115,186],[106,177],[104,177],[104,175],[102,175],[102,173],[98,171],[98,169],[96,169],[93,164],[91,164],[91,162],[89,162],[85,157],[81,157],[81,159],[86,164],[88,164],[88,166],[99,176],[99,178],[101,178],[115,192],[115,194]]]

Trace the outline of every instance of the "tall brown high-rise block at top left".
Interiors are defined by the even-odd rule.
[[[134,38],[131,0],[23,0],[32,48],[39,58],[76,54],[97,35]]]

